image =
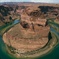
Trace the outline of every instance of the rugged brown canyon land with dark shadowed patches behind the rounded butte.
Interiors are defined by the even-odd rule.
[[[34,3],[32,5],[31,3],[26,4],[18,4],[18,3],[11,3],[10,5],[2,4],[0,5],[0,26],[7,24],[11,22],[12,20],[23,19],[23,16],[25,19],[31,19],[34,21],[38,18],[40,19],[46,19],[46,18],[56,18],[58,20],[59,15],[59,7],[56,6],[50,6],[45,5],[41,6],[40,4],[37,5]],[[27,15],[27,18],[26,18]]]

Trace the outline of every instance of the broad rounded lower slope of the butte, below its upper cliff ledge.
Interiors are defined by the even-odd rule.
[[[15,48],[19,55],[21,55],[22,53],[44,47],[48,42],[49,29],[48,26],[38,26],[36,23],[22,22],[6,32],[3,40],[8,46]]]

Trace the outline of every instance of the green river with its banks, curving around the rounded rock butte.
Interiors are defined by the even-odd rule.
[[[16,58],[15,56],[9,54],[6,49],[6,44],[3,42],[2,36],[7,30],[9,30],[12,26],[16,25],[19,22],[19,20],[15,20],[12,23],[0,27],[0,59],[59,59],[59,24],[52,21],[49,22],[50,32],[54,37],[53,39],[56,40],[56,43],[54,44],[54,46],[52,46],[53,48],[51,50],[49,50],[42,56],[35,58]],[[52,43],[52,41],[50,43]],[[47,45],[49,45],[50,43],[48,43]],[[43,51],[41,52],[43,53]]]

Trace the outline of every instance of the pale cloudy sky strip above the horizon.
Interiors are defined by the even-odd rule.
[[[59,0],[0,0],[0,2],[44,2],[44,3],[59,3]]]

